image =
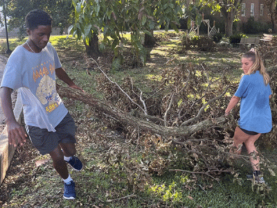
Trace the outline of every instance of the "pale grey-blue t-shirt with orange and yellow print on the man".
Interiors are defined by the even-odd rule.
[[[40,53],[17,46],[10,55],[1,87],[19,89],[27,125],[55,132],[54,128],[66,116],[68,110],[55,85],[55,69],[60,67],[57,52],[49,42]]]

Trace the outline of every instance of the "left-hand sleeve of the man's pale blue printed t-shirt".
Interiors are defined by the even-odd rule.
[[[1,87],[9,87],[14,90],[22,87],[21,70],[17,64],[12,64],[12,59],[6,64]]]

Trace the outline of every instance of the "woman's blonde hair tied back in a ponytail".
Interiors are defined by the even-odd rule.
[[[250,75],[251,73],[255,73],[256,71],[260,71],[260,74],[264,78],[264,83],[267,85],[270,81],[269,74],[265,69],[265,65],[262,62],[262,58],[260,53],[256,49],[251,49],[242,55],[242,58],[248,58],[249,60],[253,61],[253,65],[250,67],[249,71],[245,73],[245,75]]]

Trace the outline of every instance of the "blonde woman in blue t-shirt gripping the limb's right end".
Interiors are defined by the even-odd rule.
[[[270,78],[256,49],[251,49],[242,55],[242,70],[244,74],[240,85],[231,98],[225,114],[228,115],[240,101],[240,119],[238,127],[235,128],[233,145],[240,154],[244,143],[250,156],[256,182],[265,183],[260,175],[260,161],[254,143],[262,133],[270,132],[272,128],[269,106]]]

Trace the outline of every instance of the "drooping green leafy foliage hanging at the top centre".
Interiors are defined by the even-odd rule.
[[[100,49],[111,46],[115,53],[116,63],[120,62],[123,33],[129,32],[134,54],[145,62],[146,53],[141,33],[152,35],[151,31],[160,26],[177,29],[181,2],[173,0],[73,0],[75,24],[69,28],[73,35],[83,40],[89,55],[98,56],[98,35],[104,39]]]

